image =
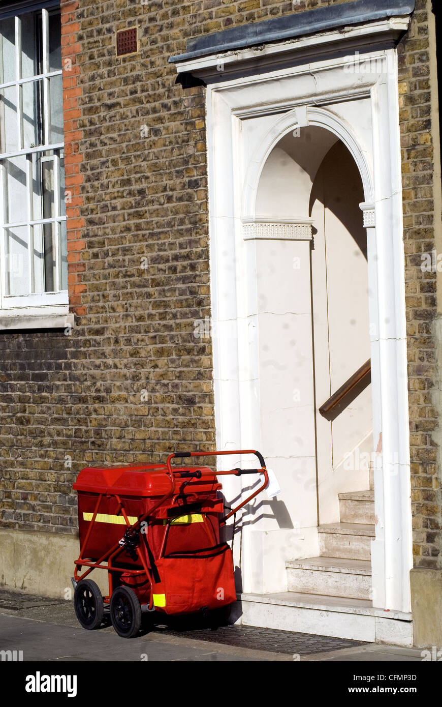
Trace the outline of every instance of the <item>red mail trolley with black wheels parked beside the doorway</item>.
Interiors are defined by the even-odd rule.
[[[173,459],[246,454],[256,455],[261,467],[215,473],[172,466]],[[263,483],[229,508],[218,481],[229,474],[261,474]],[[236,601],[232,550],[221,529],[267,484],[265,462],[256,450],[174,452],[166,464],[83,469],[73,484],[80,556],[72,582],[81,626],[97,629],[108,606],[115,631],[132,638],[142,612],[189,614]],[[107,570],[104,597],[88,576],[94,569]]]

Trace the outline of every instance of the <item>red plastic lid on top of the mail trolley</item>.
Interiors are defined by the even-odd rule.
[[[186,484],[184,493],[215,491],[221,488],[217,477],[208,467],[173,467],[174,474],[200,469],[201,479],[192,479]],[[189,479],[176,479],[176,491]],[[124,496],[164,496],[170,490],[171,481],[165,464],[145,464],[138,467],[86,467],[78,474],[73,489],[89,493],[118,493]]]

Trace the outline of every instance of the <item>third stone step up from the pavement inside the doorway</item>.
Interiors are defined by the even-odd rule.
[[[319,553],[325,557],[371,560],[374,525],[369,523],[328,523],[318,527]]]

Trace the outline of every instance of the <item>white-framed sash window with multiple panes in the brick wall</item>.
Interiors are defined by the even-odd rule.
[[[61,18],[0,15],[0,327],[67,311]]]

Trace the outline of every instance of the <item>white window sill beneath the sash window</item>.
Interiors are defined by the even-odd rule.
[[[13,329],[67,329],[74,326],[68,305],[19,307],[0,310],[0,331]]]

